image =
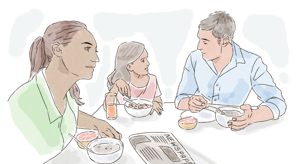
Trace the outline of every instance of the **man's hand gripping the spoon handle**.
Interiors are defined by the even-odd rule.
[[[207,101],[202,96],[192,96],[189,99],[189,109],[191,112],[199,112],[200,110],[207,108]]]

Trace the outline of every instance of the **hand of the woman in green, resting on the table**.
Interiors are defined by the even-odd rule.
[[[114,130],[106,121],[98,119],[94,126],[97,128],[101,137],[112,137],[118,140],[121,140],[122,138],[122,135]]]

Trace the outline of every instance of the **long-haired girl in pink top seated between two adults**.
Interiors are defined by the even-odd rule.
[[[120,104],[125,103],[124,96],[132,99],[145,99],[153,102],[154,110],[162,114],[161,92],[154,75],[149,74],[148,53],[144,45],[137,42],[125,42],[118,47],[115,58],[115,69],[108,76],[106,101],[111,102],[117,95]],[[117,94],[117,93],[120,94]],[[106,108],[104,100],[103,107]]]

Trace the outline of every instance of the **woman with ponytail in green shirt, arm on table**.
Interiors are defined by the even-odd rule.
[[[121,139],[107,122],[78,111],[84,103],[76,82],[92,77],[96,48],[86,25],[76,21],[51,24],[33,42],[30,79],[8,101],[14,123],[40,155],[61,152],[77,126]]]

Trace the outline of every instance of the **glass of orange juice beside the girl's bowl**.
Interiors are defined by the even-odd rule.
[[[106,93],[106,118],[116,119],[117,118],[117,94],[116,93]]]

